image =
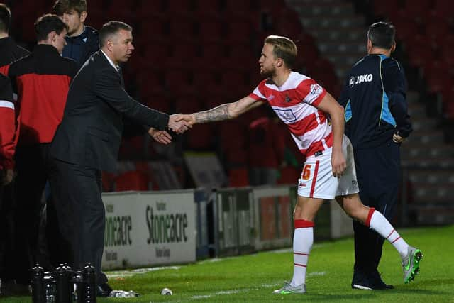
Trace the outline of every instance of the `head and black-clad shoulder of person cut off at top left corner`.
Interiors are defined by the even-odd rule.
[[[9,7],[0,3],[0,66],[8,65],[30,53],[25,48],[18,46],[9,36],[10,21]]]

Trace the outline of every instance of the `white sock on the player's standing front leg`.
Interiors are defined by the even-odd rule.
[[[314,228],[295,228],[293,236],[293,278],[290,285],[296,287],[306,283],[306,267],[314,243]]]

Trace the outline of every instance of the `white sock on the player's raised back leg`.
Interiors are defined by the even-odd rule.
[[[399,233],[397,233],[380,211],[373,211],[372,216],[370,217],[369,227],[389,241],[389,243],[397,249],[402,258],[406,256],[409,245],[405,242],[404,238],[401,238]]]

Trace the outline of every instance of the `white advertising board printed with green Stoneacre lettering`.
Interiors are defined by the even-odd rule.
[[[196,260],[194,189],[104,193],[103,201],[103,269]]]

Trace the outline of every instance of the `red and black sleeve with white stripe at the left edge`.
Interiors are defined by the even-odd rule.
[[[0,169],[9,169],[14,167],[16,114],[11,82],[3,75],[0,75],[0,121]]]

